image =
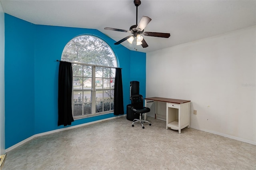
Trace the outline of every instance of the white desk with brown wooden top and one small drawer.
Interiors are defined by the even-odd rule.
[[[157,117],[157,101],[166,102],[166,129],[171,128],[178,130],[190,127],[190,101],[180,99],[168,99],[162,97],[149,97],[145,98],[145,107],[147,103],[155,103],[155,118]],[[144,114],[146,120],[146,114]]]

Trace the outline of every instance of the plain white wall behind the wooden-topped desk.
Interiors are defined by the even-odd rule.
[[[146,75],[146,97],[191,100],[192,128],[256,144],[256,26],[147,53]]]

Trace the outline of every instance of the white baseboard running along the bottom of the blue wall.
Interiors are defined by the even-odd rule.
[[[18,142],[17,144],[14,144],[13,146],[7,148],[5,150],[5,152],[9,152],[9,151],[13,150],[14,148],[17,148],[18,146],[20,146],[20,145],[22,145],[22,144],[32,140],[33,138],[38,137],[38,136],[44,136],[46,134],[52,134],[52,133],[55,133],[55,132],[61,132],[61,131],[64,131],[64,130],[68,130],[68,129],[72,129],[72,128],[77,128],[77,127],[82,127],[82,126],[86,126],[86,125],[90,125],[90,124],[94,124],[94,123],[98,123],[98,122],[102,122],[102,121],[107,121],[107,120],[110,120],[110,119],[116,119],[118,117],[124,117],[124,116],[126,116],[126,114],[125,115],[120,115],[120,116],[115,116],[115,117],[110,117],[110,118],[107,118],[107,119],[101,119],[101,120],[98,120],[98,121],[83,123],[83,124],[75,125],[75,126],[71,126],[71,127],[51,130],[51,131],[48,131],[48,132],[34,134],[33,136],[30,136],[29,138],[26,138],[25,140],[22,140],[21,142]]]

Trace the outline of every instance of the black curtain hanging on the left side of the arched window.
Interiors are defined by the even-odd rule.
[[[72,63],[60,61],[58,82],[58,126],[71,125],[72,115]]]

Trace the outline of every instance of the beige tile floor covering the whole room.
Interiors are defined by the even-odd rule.
[[[36,137],[7,152],[2,170],[256,170],[256,146],[164,121],[126,117]]]

